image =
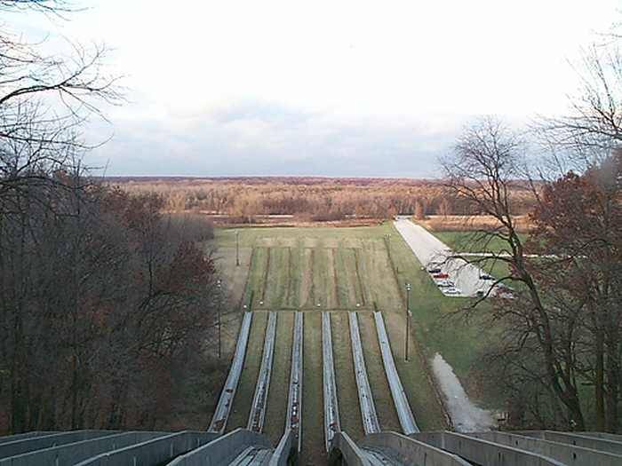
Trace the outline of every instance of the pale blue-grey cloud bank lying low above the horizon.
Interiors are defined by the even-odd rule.
[[[109,175],[430,177],[463,122],[345,118],[240,100],[172,124],[167,116],[117,121],[115,137],[88,161]]]

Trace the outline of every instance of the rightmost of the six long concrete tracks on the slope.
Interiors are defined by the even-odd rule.
[[[389,388],[391,389],[395,410],[397,411],[397,417],[400,420],[403,433],[411,434],[419,432],[419,426],[415,422],[415,416],[412,415],[411,405],[408,403],[408,398],[406,398],[402,381],[400,380],[400,376],[397,374],[397,369],[395,368],[395,361],[393,360],[391,345],[388,341],[385,321],[382,320],[382,314],[380,312],[374,312],[373,316],[376,321],[376,332],[378,334],[382,363],[385,366],[387,381]]]

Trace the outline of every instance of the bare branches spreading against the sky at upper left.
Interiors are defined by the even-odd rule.
[[[0,2],[0,11],[26,9],[73,11],[62,0]],[[103,66],[105,45],[69,44],[68,58],[42,52],[43,45],[0,26],[0,212],[12,209],[7,203],[31,184],[51,183],[50,174],[71,170],[92,146],[80,137],[83,123],[102,116],[101,104],[123,100],[116,77]]]

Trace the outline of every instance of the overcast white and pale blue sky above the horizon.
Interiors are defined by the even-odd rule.
[[[77,3],[77,0],[76,0]],[[27,36],[115,49],[108,175],[429,177],[474,115],[562,113],[619,1],[100,0]]]

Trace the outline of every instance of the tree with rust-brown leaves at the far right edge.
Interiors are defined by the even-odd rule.
[[[576,70],[580,88],[570,97],[566,115],[540,118],[534,130],[549,149],[549,161],[559,181],[549,183],[557,197],[568,195],[568,186],[585,186],[584,197],[575,205],[561,201],[540,203],[538,214],[554,220],[550,232],[561,231],[570,220],[581,225],[566,241],[559,241],[558,253],[572,257],[572,270],[580,272],[587,287],[570,291],[573,301],[581,290],[592,316],[587,322],[591,336],[590,358],[579,359],[584,376],[594,383],[596,427],[616,431],[620,396],[622,345],[619,342],[619,245],[612,238],[619,235],[620,150],[622,150],[622,36],[601,36],[583,51]],[[568,169],[581,174],[580,179],[564,173]],[[582,205],[579,201],[586,203]],[[551,212],[567,207],[564,217]],[[565,221],[562,221],[565,218]],[[544,237],[544,235],[543,235]],[[580,252],[578,252],[580,251]],[[586,261],[585,257],[590,257]],[[576,283],[576,280],[574,280]],[[567,302],[567,300],[564,300]]]

